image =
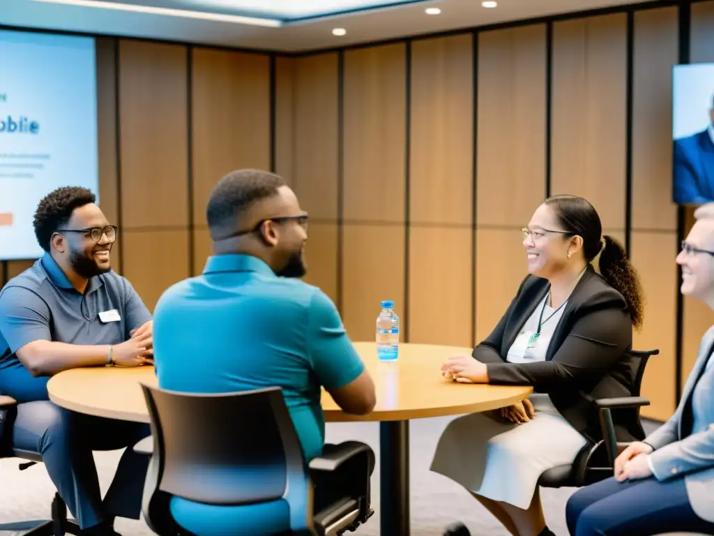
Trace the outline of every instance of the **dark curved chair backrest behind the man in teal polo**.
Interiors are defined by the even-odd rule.
[[[280,388],[189,394],[141,387],[161,492],[210,505],[249,505],[283,497],[291,477],[305,480]]]

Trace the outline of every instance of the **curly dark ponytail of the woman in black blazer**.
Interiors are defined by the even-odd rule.
[[[625,249],[613,237],[603,236],[605,247],[600,252],[600,274],[625,297],[635,329],[642,327],[643,293],[637,271],[625,254]]]

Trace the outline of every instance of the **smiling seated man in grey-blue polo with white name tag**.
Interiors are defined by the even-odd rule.
[[[151,314],[131,284],[111,271],[117,229],[85,188],[44,197],[34,217],[44,256],[0,291],[0,394],[19,402],[15,449],[39,452],[87,536],[117,536],[114,517],[139,519],[148,460],[133,445],[148,425],[61,409],[47,381],[66,369],[151,362]],[[129,447],[101,499],[93,450]]]

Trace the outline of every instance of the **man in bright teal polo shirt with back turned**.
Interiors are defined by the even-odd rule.
[[[154,310],[159,387],[281,387],[311,460],[325,439],[321,387],[357,415],[373,410],[375,392],[331,299],[298,279],[306,273],[308,215],[281,177],[243,169],[213,189],[206,216],[213,257]]]

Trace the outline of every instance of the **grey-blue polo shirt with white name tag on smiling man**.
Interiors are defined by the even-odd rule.
[[[120,319],[104,322],[107,311]],[[115,272],[91,277],[78,292],[49,253],[0,290],[0,392],[21,402],[46,399],[47,378],[15,374],[16,352],[30,342],[119,344],[151,313],[129,281]],[[41,397],[41,398],[38,398]]]

